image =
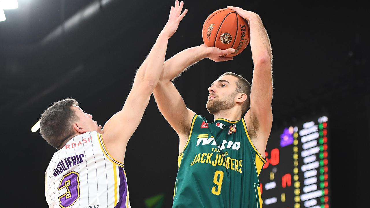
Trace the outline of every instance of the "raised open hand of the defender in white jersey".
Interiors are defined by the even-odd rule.
[[[169,12],[169,17],[166,25],[164,26],[162,33],[164,33],[168,38],[170,38],[173,34],[175,34],[180,21],[184,18],[185,14],[188,12],[188,9],[185,9],[182,13],[182,7],[184,6],[184,2],[181,1],[179,5],[179,1],[175,1],[175,7],[171,6],[171,11]]]

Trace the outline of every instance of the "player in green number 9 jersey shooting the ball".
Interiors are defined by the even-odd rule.
[[[227,61],[232,58],[220,56],[235,52],[201,45],[165,61],[153,91],[159,110],[180,139],[174,208],[262,207],[258,175],[266,162],[272,126],[272,50],[256,13],[228,8],[249,22],[253,87],[245,78],[225,73],[208,88],[206,107],[214,115],[212,123],[188,109],[171,80],[203,58]]]

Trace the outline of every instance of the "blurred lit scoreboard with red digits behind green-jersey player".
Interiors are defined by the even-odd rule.
[[[272,131],[259,175],[263,208],[329,208],[328,117]]]

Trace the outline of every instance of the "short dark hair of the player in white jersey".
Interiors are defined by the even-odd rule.
[[[41,115],[40,133],[44,140],[57,149],[73,136],[71,125],[79,120],[72,105],[78,105],[78,102],[71,98],[60,100]]]

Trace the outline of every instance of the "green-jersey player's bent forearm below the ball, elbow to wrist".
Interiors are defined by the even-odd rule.
[[[203,45],[181,51],[164,63],[161,81],[171,81],[179,76],[186,68],[207,57],[207,48]]]

